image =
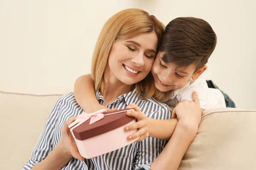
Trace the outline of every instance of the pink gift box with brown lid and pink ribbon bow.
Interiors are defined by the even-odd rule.
[[[124,128],[136,122],[127,111],[107,112],[106,109],[94,113],[81,113],[68,127],[76,141],[79,153],[90,159],[121,147],[125,147],[137,139],[128,140],[127,137],[137,131],[125,131]]]

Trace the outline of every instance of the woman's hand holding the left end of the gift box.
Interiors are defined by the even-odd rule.
[[[70,128],[68,128],[68,125],[70,125],[75,120],[76,120],[76,118],[72,117],[70,120],[67,120],[64,123],[64,125],[61,129],[61,141],[60,142],[67,149],[67,153],[70,153],[70,155],[72,155],[76,159],[84,161],[84,157],[82,157],[78,151],[75,139],[73,138],[73,136],[70,132]]]

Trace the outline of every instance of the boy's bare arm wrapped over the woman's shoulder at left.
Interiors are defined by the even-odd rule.
[[[83,75],[76,79],[74,94],[76,102],[84,109],[86,113],[92,113],[101,109],[106,109],[100,105],[95,97],[93,79],[90,74]]]

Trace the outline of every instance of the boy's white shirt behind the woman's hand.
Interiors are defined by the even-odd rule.
[[[192,101],[193,91],[196,91],[198,94],[201,108],[226,108],[225,99],[221,91],[214,88],[208,88],[207,82],[203,77],[199,77],[196,80],[190,79],[183,88],[172,90],[166,104],[175,106],[183,99]]]

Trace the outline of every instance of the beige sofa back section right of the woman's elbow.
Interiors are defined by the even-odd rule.
[[[179,170],[256,170],[256,111],[205,110]]]

